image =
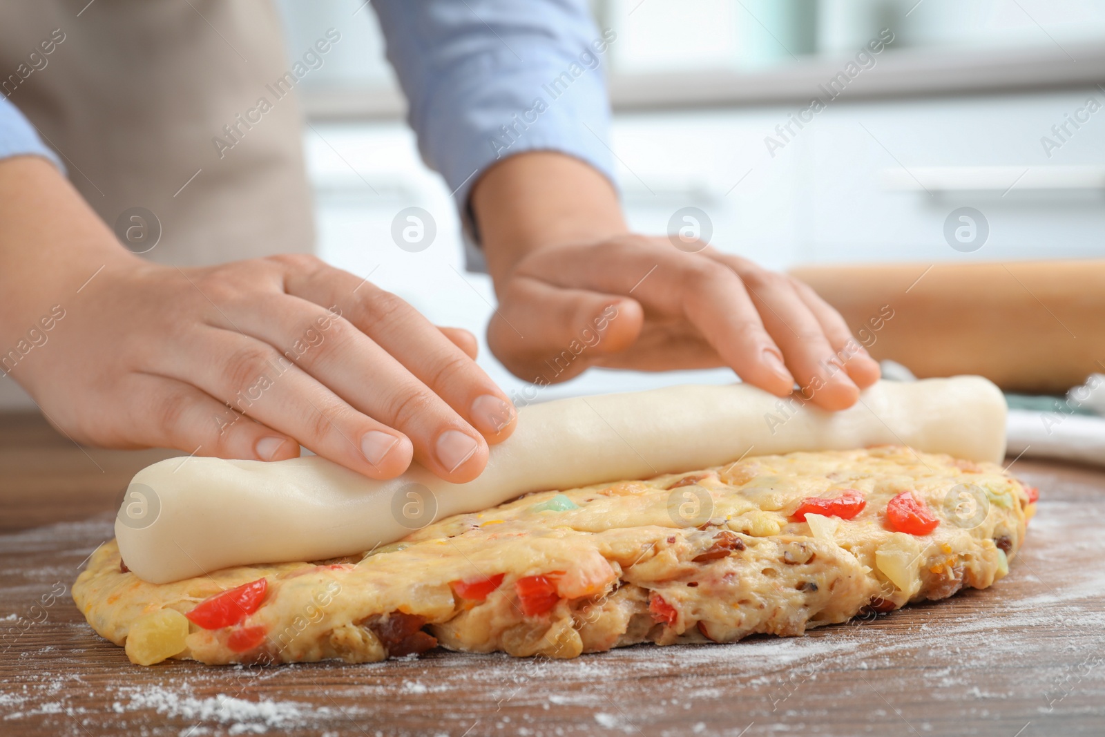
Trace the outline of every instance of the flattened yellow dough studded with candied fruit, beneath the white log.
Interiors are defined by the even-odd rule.
[[[887,508],[903,492],[927,506],[935,529],[894,528]],[[810,497],[845,494],[865,499],[852,518],[794,515]],[[533,494],[348,558],[175,583],[125,572],[108,543],[73,597],[96,632],[144,665],[371,662],[435,644],[575,657],[732,642],[986,588],[1009,571],[1034,499],[998,465],[902,446],[749,456]],[[245,585],[265,590],[233,621],[189,621]]]

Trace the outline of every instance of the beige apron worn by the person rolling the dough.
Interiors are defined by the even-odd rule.
[[[43,54],[41,42],[52,38],[63,40]],[[294,94],[276,99],[266,87],[288,67],[270,0],[6,0],[0,8],[3,94],[109,227],[130,208],[157,217],[160,240],[144,255],[159,263],[313,250],[299,109]],[[236,116],[261,97],[272,109],[246,127]],[[233,139],[223,126],[236,126]],[[215,137],[234,145],[220,156]],[[0,409],[28,407],[14,381],[0,380]]]

